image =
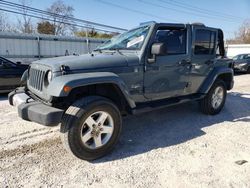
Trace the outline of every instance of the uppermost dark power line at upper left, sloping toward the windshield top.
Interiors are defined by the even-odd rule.
[[[119,30],[119,31],[126,31],[126,29],[124,28],[119,28],[119,27],[114,27],[114,26],[110,26],[110,25],[104,25],[104,24],[100,24],[100,23],[96,23],[96,22],[91,22],[88,20],[83,20],[83,19],[78,19],[78,18],[74,18],[74,17],[69,17],[69,16],[63,16],[60,14],[55,14],[55,13],[51,13],[49,11],[44,11],[44,10],[40,10],[37,8],[32,8],[30,6],[25,6],[25,5],[21,5],[21,4],[17,4],[17,3],[12,3],[12,2],[8,2],[8,1],[4,1],[4,0],[0,0],[0,4],[3,5],[7,5],[10,7],[16,7],[16,8],[20,8],[20,9],[25,9],[29,12],[33,12],[33,13],[40,13],[46,16],[54,16],[57,18],[64,18],[70,21],[76,21],[76,22],[81,22],[87,25],[94,25],[94,26],[98,26],[98,27],[103,27],[103,28],[110,28],[110,29],[114,29],[114,30]]]

